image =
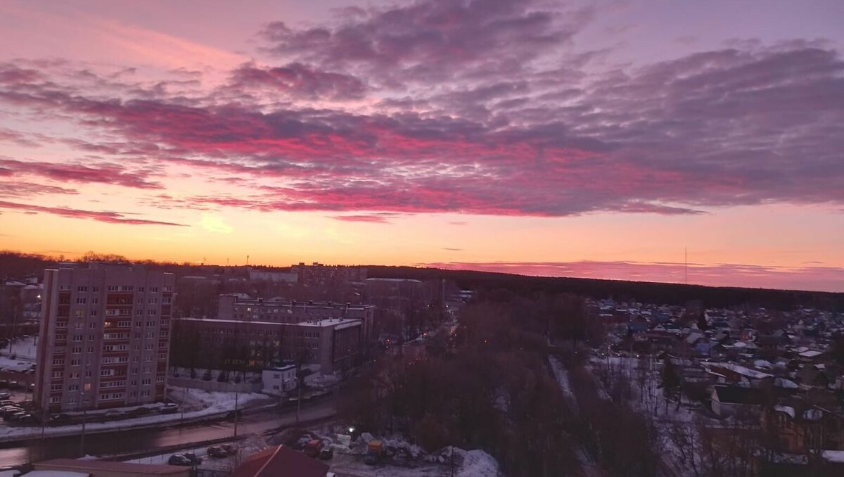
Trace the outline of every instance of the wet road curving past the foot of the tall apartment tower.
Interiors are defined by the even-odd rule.
[[[330,417],[334,414],[334,405],[335,400],[330,396],[303,404],[300,420]],[[259,409],[241,416],[237,424],[237,435],[259,434],[279,427],[291,426],[295,422],[295,409],[285,409],[284,415],[279,415],[275,409]],[[234,436],[234,431],[234,420],[218,420],[160,429],[100,432],[85,436],[85,453],[112,455],[143,452],[181,444],[189,447],[192,442]],[[50,458],[78,458],[81,455],[80,442],[79,436],[63,436],[35,439],[30,442],[30,445],[14,443],[4,446],[0,444],[0,466],[10,467]]]

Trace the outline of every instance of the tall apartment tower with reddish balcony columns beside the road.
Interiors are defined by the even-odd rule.
[[[47,269],[35,404],[50,412],[165,397],[173,274],[91,263]]]

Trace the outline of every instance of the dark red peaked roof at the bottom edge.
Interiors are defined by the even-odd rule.
[[[325,477],[328,466],[289,447],[270,447],[252,455],[231,477]]]

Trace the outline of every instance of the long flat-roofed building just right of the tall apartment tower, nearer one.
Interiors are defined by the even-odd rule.
[[[359,319],[300,323],[177,318],[173,364],[230,371],[260,370],[279,362],[315,364],[330,373],[357,364],[364,349]]]

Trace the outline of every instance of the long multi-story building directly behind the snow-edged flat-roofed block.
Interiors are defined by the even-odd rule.
[[[302,323],[328,318],[357,319],[363,324],[363,339],[371,341],[375,306],[314,301],[277,301],[245,299],[238,295],[219,295],[217,317],[220,320],[264,323]]]

